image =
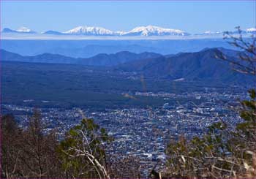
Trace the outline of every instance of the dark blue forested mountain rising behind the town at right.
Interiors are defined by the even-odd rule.
[[[217,80],[223,83],[252,82],[253,77],[233,71],[227,61],[216,56],[225,54],[228,59],[238,59],[236,50],[224,48],[206,48],[196,53],[178,53],[174,56],[131,61],[115,67],[116,71],[137,72],[145,77],[184,79],[184,80]]]

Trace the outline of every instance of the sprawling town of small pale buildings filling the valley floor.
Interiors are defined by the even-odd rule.
[[[48,121],[50,128],[59,128],[59,134],[67,132],[72,126],[80,123],[82,118],[93,118],[99,126],[107,129],[114,137],[108,153],[112,155],[135,156],[140,159],[143,172],[148,172],[157,161],[165,162],[165,148],[170,140],[181,134],[190,138],[202,135],[211,123],[225,121],[230,127],[235,126],[239,118],[236,110],[238,97],[244,99],[246,94],[226,94],[217,92],[193,92],[186,94],[141,93],[140,96],[163,97],[167,102],[157,108],[106,109],[91,111],[83,108],[59,109],[42,108],[42,119]],[[178,100],[182,103],[169,103]],[[34,108],[2,104],[7,113],[14,113],[21,126],[26,126],[28,114]]]

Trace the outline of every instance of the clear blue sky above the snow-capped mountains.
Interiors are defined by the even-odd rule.
[[[155,25],[190,33],[256,25],[255,1],[1,1],[1,28],[67,31]]]

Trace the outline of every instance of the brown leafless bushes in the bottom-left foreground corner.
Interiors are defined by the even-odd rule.
[[[2,129],[4,178],[61,177],[56,133],[45,132],[46,126],[39,111],[34,111],[26,129],[10,127],[10,124],[2,126]]]

